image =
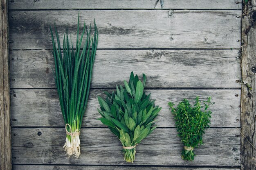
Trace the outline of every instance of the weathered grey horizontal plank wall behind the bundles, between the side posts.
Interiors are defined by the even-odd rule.
[[[9,0],[13,169],[240,169],[241,0]],[[162,5],[161,5],[162,4]],[[75,37],[81,21],[99,28],[92,89],[79,159],[65,159],[64,122],[52,73],[49,26]],[[126,163],[115,135],[97,120],[97,95],[130,72],[147,75],[146,92],[163,107],[158,128]],[[120,74],[121,73],[121,74]],[[213,97],[211,127],[195,161],[182,144],[167,102]]]

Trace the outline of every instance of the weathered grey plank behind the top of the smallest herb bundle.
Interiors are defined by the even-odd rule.
[[[112,92],[113,90],[107,90]],[[240,89],[234,90],[147,90],[155,104],[162,107],[157,118],[158,126],[174,127],[175,122],[167,106],[169,101],[180,102],[183,98],[193,100],[195,96],[206,99],[213,97],[214,105],[211,127],[240,127]],[[85,127],[104,127],[97,120],[99,102],[97,96],[106,97],[101,89],[90,90],[89,101],[83,125]],[[64,126],[58,95],[55,89],[13,89],[11,90],[12,126]]]

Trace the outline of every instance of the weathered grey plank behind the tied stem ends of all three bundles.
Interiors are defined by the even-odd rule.
[[[41,135],[38,136],[38,132]],[[204,145],[195,149],[194,161],[183,161],[176,129],[156,129],[137,146],[134,165],[240,166],[240,133],[237,129],[208,129]],[[13,163],[130,165],[125,163],[119,139],[107,128],[81,129],[81,156],[65,159],[64,128],[12,130]]]

